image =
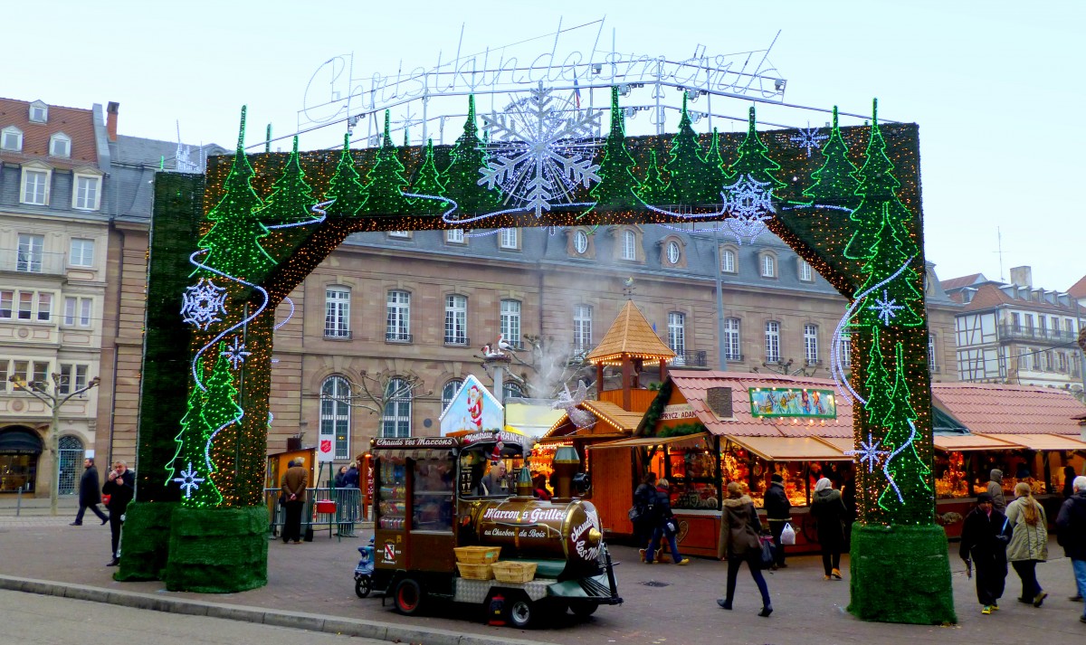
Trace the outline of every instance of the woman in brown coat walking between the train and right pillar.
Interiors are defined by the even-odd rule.
[[[728,482],[728,498],[724,499],[723,510],[720,514],[719,546],[719,554],[728,556],[728,595],[717,598],[717,604],[724,609],[732,608],[735,579],[738,578],[740,566],[746,562],[755,584],[758,585],[758,592],[761,593],[761,611],[758,616],[766,618],[773,612],[773,605],[769,600],[766,578],[761,574],[762,543],[759,533],[761,533],[761,522],[758,520],[754,501],[743,494],[743,486],[738,482]],[[772,557],[769,564],[772,564]]]

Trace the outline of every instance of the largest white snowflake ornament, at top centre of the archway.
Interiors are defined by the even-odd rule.
[[[599,146],[594,139],[598,111],[569,110],[541,83],[505,113],[482,119],[490,140],[483,144],[489,161],[479,169],[479,185],[501,187],[535,217],[559,201],[573,203],[578,186],[599,181],[599,165],[592,163]]]

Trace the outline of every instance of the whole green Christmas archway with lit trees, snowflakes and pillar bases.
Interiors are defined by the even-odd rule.
[[[684,101],[677,134],[626,137],[618,99],[614,88],[603,139],[592,136],[599,112],[564,114],[540,87],[483,117],[485,137],[469,98],[451,147],[396,148],[386,113],[376,149],[353,151],[344,137],[342,150],[299,153],[295,139],[291,153],[253,155],[243,153],[242,112],[235,156],[210,160],[206,176],[160,175],[139,503],[121,577],[154,577],[165,559],[169,589],[265,582],[275,311],[350,233],[719,222],[738,244],[772,231],[849,301],[831,371],[863,410],[854,416],[850,610],[954,621],[946,538],[934,522],[917,126],[881,125],[874,111],[871,125],[842,128],[834,110],[826,128],[759,132],[752,108],[745,132],[698,136]],[[180,318],[169,304],[178,298]],[[846,332],[850,381],[836,353]],[[184,395],[171,393],[182,378]],[[161,530],[134,535],[134,524],[155,522],[172,527],[168,546]],[[207,549],[222,534],[252,548]]]

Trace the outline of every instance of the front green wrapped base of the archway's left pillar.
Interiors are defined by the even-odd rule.
[[[169,534],[166,589],[228,594],[264,586],[268,582],[267,528],[264,506],[179,506]]]

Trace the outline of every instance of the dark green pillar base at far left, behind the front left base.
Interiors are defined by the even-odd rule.
[[[121,530],[121,566],[114,580],[160,580],[169,555],[169,527],[176,502],[132,502]]]

